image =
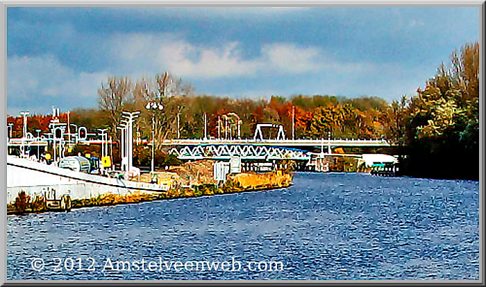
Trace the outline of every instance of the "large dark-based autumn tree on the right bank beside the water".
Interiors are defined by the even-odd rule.
[[[478,75],[479,45],[465,44],[417,89],[405,116],[410,175],[478,178]]]

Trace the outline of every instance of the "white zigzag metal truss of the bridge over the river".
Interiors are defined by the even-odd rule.
[[[312,153],[305,150],[280,148],[276,146],[255,145],[201,145],[171,148],[169,154],[178,159],[231,159],[241,157],[242,160],[310,160]]]

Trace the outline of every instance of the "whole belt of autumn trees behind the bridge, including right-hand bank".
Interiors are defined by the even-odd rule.
[[[440,64],[416,94],[388,103],[376,96],[346,98],[333,95],[274,95],[269,99],[228,98],[196,95],[194,87],[169,72],[153,79],[110,77],[98,89],[98,109],[76,109],[70,121],[88,129],[106,127],[119,139],[116,126],[121,110],[140,110],[135,139],[151,140],[154,130],[156,166],[177,162],[162,152],[163,139],[204,137],[253,137],[256,123],[280,123],[292,137],[292,114],[297,139],[384,138],[396,144],[401,173],[417,177],[478,179],[479,176],[479,44],[465,44]],[[413,93],[413,91],[403,91]],[[163,110],[146,110],[147,101],[160,101]],[[235,114],[237,116],[235,116]],[[238,119],[239,118],[239,119]],[[47,131],[51,116],[34,115],[28,128]],[[67,114],[61,115],[62,121]],[[227,121],[228,124],[225,124]],[[22,118],[8,117],[12,135],[22,134]],[[219,123],[219,124],[218,124]],[[218,128],[219,126],[219,128]],[[225,130],[226,128],[226,130]],[[268,137],[275,134],[267,134]],[[87,147],[86,147],[87,148]],[[95,147],[88,150],[95,151]],[[77,150],[76,150],[77,151]],[[354,152],[360,152],[360,150]],[[373,151],[371,151],[373,152]],[[351,153],[344,148],[344,153]],[[368,152],[369,153],[369,152]],[[114,162],[119,162],[119,157]],[[148,165],[148,146],[137,146],[135,164]]]

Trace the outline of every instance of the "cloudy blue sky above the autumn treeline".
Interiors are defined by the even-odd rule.
[[[196,94],[387,101],[479,40],[477,7],[7,8],[7,113],[97,107],[108,77]]]

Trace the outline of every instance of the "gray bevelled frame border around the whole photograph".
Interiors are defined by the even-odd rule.
[[[1,173],[0,182],[3,182],[3,193],[4,196],[1,197],[1,222],[3,225],[3,232],[0,234],[3,245],[1,246],[1,258],[5,260],[0,261],[0,282],[3,285],[19,285],[19,284],[38,284],[38,285],[53,285],[53,284],[73,284],[73,285],[85,285],[85,284],[106,284],[106,285],[128,285],[128,284],[143,284],[143,285],[154,285],[154,284],[271,284],[271,285],[287,285],[287,284],[356,284],[356,285],[376,285],[376,284],[389,284],[389,285],[404,285],[404,284],[427,284],[427,285],[451,285],[451,284],[464,284],[464,285],[484,285],[484,266],[483,266],[483,206],[484,206],[484,195],[483,195],[483,175],[484,175],[484,139],[485,134],[483,132],[484,128],[484,26],[485,26],[485,3],[483,1],[304,1],[302,3],[298,2],[288,2],[280,1],[280,3],[272,2],[258,2],[258,1],[234,1],[234,2],[218,2],[218,1],[166,1],[166,2],[145,2],[145,3],[135,3],[135,2],[97,2],[97,1],[83,1],[83,2],[49,2],[44,3],[29,2],[29,1],[2,1],[1,6],[1,53],[3,57],[1,58],[1,65],[3,67],[3,76],[1,78],[1,124],[0,124],[0,134],[1,138],[1,148],[2,150],[7,150],[6,146],[6,125],[7,125],[7,8],[8,7],[108,7],[108,6],[124,6],[124,7],[376,7],[376,6],[391,6],[391,7],[410,7],[410,6],[446,6],[446,7],[478,7],[479,8],[479,43],[480,43],[480,71],[479,71],[479,92],[480,92],[480,109],[479,109],[479,129],[480,129],[480,150],[479,150],[479,279],[478,280],[394,280],[394,279],[383,279],[383,280],[7,280],[7,205],[6,205],[6,178],[7,178],[7,168],[6,168],[6,152],[0,153]]]

